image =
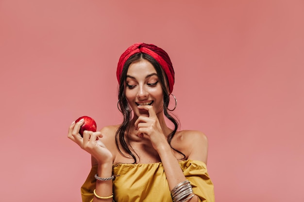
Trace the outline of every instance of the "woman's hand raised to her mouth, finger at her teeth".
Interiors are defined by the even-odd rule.
[[[159,120],[151,105],[139,105],[138,109],[145,109],[149,112],[149,117],[139,116],[135,121],[135,129],[137,130],[138,137],[147,137],[153,148],[158,151],[164,143],[168,144],[166,136],[160,126]]]

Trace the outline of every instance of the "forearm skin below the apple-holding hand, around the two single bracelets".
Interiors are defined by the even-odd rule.
[[[98,166],[97,175],[101,178],[108,178],[112,176],[112,162],[104,163]],[[101,181],[96,180],[95,193],[101,197],[109,197],[113,194],[113,184],[112,180]],[[93,202],[112,202],[113,198],[109,199],[99,199],[94,196]]]

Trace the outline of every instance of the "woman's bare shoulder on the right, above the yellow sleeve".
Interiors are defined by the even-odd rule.
[[[186,152],[187,158],[200,160],[207,163],[208,139],[207,136],[198,130],[182,130],[176,134],[176,143],[179,143]]]

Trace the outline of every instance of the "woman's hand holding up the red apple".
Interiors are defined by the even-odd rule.
[[[83,138],[79,134],[80,127],[84,120],[77,123],[73,122],[68,128],[68,138],[76,142],[84,151],[91,154],[99,164],[113,163],[112,153],[105,147],[101,139],[103,135],[100,131],[84,131]]]

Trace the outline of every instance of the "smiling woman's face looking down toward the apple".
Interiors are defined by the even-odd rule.
[[[125,81],[125,95],[135,116],[149,116],[138,105],[152,105],[155,113],[163,112],[163,90],[153,65],[147,60],[131,63]]]

